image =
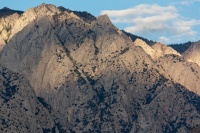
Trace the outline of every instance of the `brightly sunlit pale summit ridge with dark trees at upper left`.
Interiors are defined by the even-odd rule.
[[[0,51],[16,33],[31,23],[37,25],[39,21],[41,22],[41,19],[43,19],[43,21],[50,21],[53,27],[55,27],[58,21],[64,22],[66,19],[72,18],[80,19],[88,24],[96,20],[93,15],[87,12],[71,11],[64,7],[56,7],[52,4],[45,3],[31,8],[24,13],[20,12],[20,14],[13,14],[16,11],[7,8],[2,9],[2,12],[5,18],[0,18]],[[58,19],[58,21],[55,21],[55,19]],[[107,20],[110,21],[108,17]]]

